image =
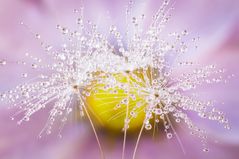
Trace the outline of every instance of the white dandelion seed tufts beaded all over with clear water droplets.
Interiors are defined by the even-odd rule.
[[[190,120],[187,111],[196,112],[202,118],[219,121],[229,129],[224,114],[214,108],[212,102],[200,101],[185,93],[205,83],[224,82],[220,76],[223,69],[210,65],[178,77],[173,76],[178,68],[194,67],[195,64],[192,61],[178,60],[189,48],[189,44],[185,42],[187,30],[170,33],[165,39],[162,37],[163,28],[171,17],[172,8],[168,1],[153,16],[147,30],[143,30],[145,15],[131,16],[130,7],[127,8],[126,16],[131,20],[127,23],[126,37],[117,31],[115,25],[109,28],[109,33],[115,37],[117,44],[111,44],[97,30],[97,25],[90,21],[85,22],[82,10],[75,10],[79,13],[77,30],[57,25],[56,28],[66,40],[60,48],[43,42],[40,34],[34,34],[52,62],[46,64],[29,53],[26,53],[26,57],[32,59],[32,69],[46,73],[0,94],[2,101],[19,107],[20,111],[13,116],[14,119],[16,115],[23,114],[19,124],[29,121],[39,110],[52,107],[42,131],[50,134],[56,119],[60,118],[62,125],[65,124],[73,110],[73,100],[78,101],[80,114],[84,116],[87,110],[85,98],[97,94],[94,89],[94,84],[97,83],[102,84],[100,89],[110,90],[116,97],[118,90],[123,90],[125,96],[115,105],[115,110],[125,110],[130,101],[136,101],[131,106],[132,111],[126,115],[124,129],[130,127],[130,120],[137,118],[140,111],[145,113],[142,125],[146,130],[151,130],[154,122],[162,121],[169,139],[176,134],[171,120],[176,123],[184,121],[192,134],[197,134],[202,141],[206,139],[205,131]],[[26,26],[23,22],[21,24]],[[192,41],[196,39],[193,38]],[[126,45],[123,41],[126,41]],[[175,60],[178,65],[175,67],[168,59]],[[28,65],[22,61],[17,63]],[[6,60],[0,60],[0,66],[6,64]],[[123,74],[128,82],[119,82],[115,74]],[[28,78],[28,74],[23,73],[22,77]]]

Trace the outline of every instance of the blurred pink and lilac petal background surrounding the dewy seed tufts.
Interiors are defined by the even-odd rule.
[[[204,89],[203,96],[224,102],[218,104],[231,123],[227,131],[221,125],[198,121],[209,132],[209,153],[203,153],[197,137],[189,135],[187,129],[178,129],[186,154],[183,154],[176,139],[143,137],[137,153],[138,159],[237,159],[239,156],[239,1],[238,0],[175,0],[175,10],[167,30],[187,29],[193,36],[200,36],[199,49],[188,54],[187,58],[196,59],[201,64],[217,64],[227,70],[227,75],[235,74],[228,84],[218,84]],[[37,41],[34,40],[19,22],[23,20],[32,30],[52,44],[61,44],[61,36],[56,24],[75,26],[76,16],[73,9],[82,5],[77,0],[0,0],[0,59],[16,61],[23,58],[26,51],[35,56],[45,57]],[[113,22],[121,31],[125,24],[126,1],[85,0],[86,17],[97,23],[102,32]],[[161,1],[136,1],[136,12],[146,13],[150,19],[160,7]],[[110,15],[111,18],[104,19]],[[6,67],[0,66],[0,91],[8,90],[22,79],[19,75],[29,68],[19,68],[14,62]],[[30,70],[30,69],[29,69]],[[37,136],[44,126],[47,112],[35,115],[29,123],[17,126],[11,121],[13,110],[0,105],[0,159],[93,159],[100,158],[98,146],[90,128],[83,124],[66,126],[63,138],[54,135],[41,140]],[[57,136],[57,134],[56,134]],[[105,137],[104,137],[105,138]],[[121,158],[120,140],[104,142],[106,158]],[[217,139],[218,143],[215,143]],[[131,140],[130,140],[131,141]],[[128,142],[126,157],[131,158],[134,142]]]

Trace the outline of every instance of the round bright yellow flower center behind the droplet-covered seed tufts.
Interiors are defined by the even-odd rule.
[[[120,132],[125,126],[127,131],[134,131],[143,125],[147,106],[144,88],[152,81],[149,72],[138,69],[110,75],[99,73],[103,82],[92,82],[85,102],[100,126]]]

